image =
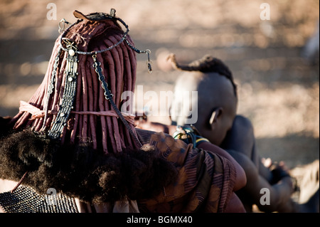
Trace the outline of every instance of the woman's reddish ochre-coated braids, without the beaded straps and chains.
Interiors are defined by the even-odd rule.
[[[78,50],[85,52],[100,51],[113,46],[123,38],[123,34],[124,31],[115,20],[82,20],[72,26],[65,33],[65,37],[75,41]],[[127,41],[134,46],[129,35],[127,35]],[[59,45],[60,37],[55,41],[43,82],[28,102],[21,102],[21,109],[12,120],[14,129],[23,130],[30,127],[35,132],[43,133],[48,132],[53,125],[63,97],[67,51],[61,51],[58,56],[54,90],[48,101],[48,115],[43,112],[46,109],[48,85]],[[97,53],[97,60],[101,63],[105,80],[114,95],[113,100],[119,110],[124,102],[121,99],[122,93],[124,91],[134,92],[137,68],[135,54],[125,41],[110,51]],[[78,59],[75,101],[68,124],[63,128],[61,142],[70,144],[87,142],[92,144],[94,149],[103,149],[106,154],[121,152],[127,147],[133,149],[139,147],[118,116],[110,114],[112,107],[106,100],[105,91],[98,80],[95,68],[92,67],[94,63],[92,56],[79,54]],[[37,113],[35,113],[36,110],[38,110]],[[129,126],[136,133],[134,125],[131,123]]]

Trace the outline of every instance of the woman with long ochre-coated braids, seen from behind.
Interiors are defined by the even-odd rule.
[[[132,110],[119,111],[136,53],[150,53],[127,24],[114,9],[74,15],[36,93],[0,119],[1,211],[243,211],[234,191],[246,179],[230,155],[138,130]]]

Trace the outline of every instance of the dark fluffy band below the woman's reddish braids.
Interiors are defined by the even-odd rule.
[[[0,178],[23,183],[39,194],[54,188],[95,204],[149,199],[171,184],[177,171],[153,147],[102,154],[87,144],[60,145],[23,130],[0,139]]]

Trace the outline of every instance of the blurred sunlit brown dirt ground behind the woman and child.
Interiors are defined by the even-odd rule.
[[[260,17],[262,3],[270,6],[270,20]],[[129,25],[136,47],[151,50],[151,74],[146,56],[137,56],[144,93],[170,102],[160,92],[174,88],[179,72],[166,62],[168,53],[181,63],[210,54],[233,71],[238,112],[252,121],[262,157],[283,160],[299,177],[304,165],[319,159],[319,53],[302,58],[319,21],[316,0],[0,0],[0,115],[16,115],[19,100],[28,101],[38,88],[60,19],[74,22],[75,9],[110,8]]]

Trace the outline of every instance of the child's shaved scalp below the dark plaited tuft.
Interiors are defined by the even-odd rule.
[[[191,91],[198,93],[197,98],[186,97],[191,95]],[[184,72],[176,80],[174,88],[174,100],[171,105],[171,120],[176,125],[186,125],[186,122],[194,115],[198,119],[193,125],[207,137],[211,142],[220,143],[220,138],[210,139],[213,137],[211,124],[213,123],[215,114],[221,115],[219,127],[215,128],[217,134],[221,136],[232,126],[233,118],[237,109],[238,98],[235,93],[235,86],[229,78],[219,73],[202,73],[198,71]],[[186,110],[186,106],[189,108]],[[197,112],[192,111],[191,107],[197,106]],[[219,112],[215,112],[219,110]],[[189,113],[189,115],[188,115]],[[213,115],[214,114],[214,115]],[[215,139],[218,142],[214,142]]]

